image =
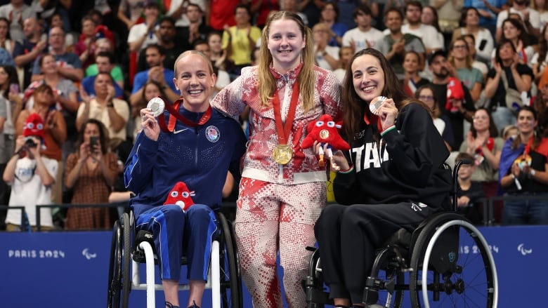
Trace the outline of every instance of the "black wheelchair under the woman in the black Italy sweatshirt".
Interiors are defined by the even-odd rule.
[[[457,191],[457,171],[453,172]],[[411,307],[497,307],[498,281],[487,241],[463,215],[436,213],[413,232],[400,229],[375,252],[363,292],[365,307],[402,307],[409,291]],[[320,251],[313,250],[304,280],[308,308],[333,304],[322,276]],[[409,307],[405,303],[405,307]]]

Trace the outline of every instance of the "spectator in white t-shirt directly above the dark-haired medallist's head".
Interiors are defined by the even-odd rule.
[[[343,46],[351,46],[354,52],[363,48],[374,48],[377,41],[383,38],[379,29],[371,26],[372,13],[368,6],[356,6],[353,12],[354,21],[358,27],[349,29],[342,39]]]

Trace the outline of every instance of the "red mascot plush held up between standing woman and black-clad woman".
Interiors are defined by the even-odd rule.
[[[340,168],[337,166],[337,163],[331,159],[333,156],[332,149],[340,149],[342,151],[348,151],[350,149],[350,145],[348,145],[348,143],[341,138],[341,135],[339,135],[338,128],[341,128],[341,126],[335,124],[333,118],[329,114],[324,114],[320,116],[320,119],[317,121],[308,123],[308,126],[306,127],[308,135],[306,135],[306,138],[304,138],[303,143],[301,144],[303,149],[312,147],[314,141],[318,141],[322,144],[322,147],[320,147],[320,161],[318,161],[318,164],[320,167],[323,167],[325,166],[323,145],[327,143],[327,158],[330,159],[331,168],[336,171]]]

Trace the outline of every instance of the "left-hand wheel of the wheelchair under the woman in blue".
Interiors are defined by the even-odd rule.
[[[110,262],[108,271],[107,307],[128,307],[131,281],[131,223],[129,214],[124,213],[122,222],[117,220],[112,230]],[[122,304],[122,305],[120,305]]]

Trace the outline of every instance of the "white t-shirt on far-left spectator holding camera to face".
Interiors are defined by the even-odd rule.
[[[55,159],[48,159],[41,156],[44,166],[48,173],[56,178],[58,162]],[[51,204],[51,189],[42,185],[39,175],[36,174],[36,160],[28,157],[18,159],[15,163],[15,180],[11,184],[11,195],[9,206],[25,206],[25,211],[29,217],[30,225],[36,225],[36,206],[41,204]],[[21,225],[21,211],[8,210],[6,223]],[[51,208],[41,208],[40,225],[53,227],[51,218]]]

